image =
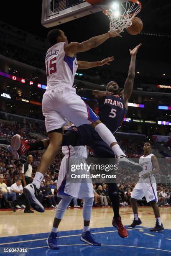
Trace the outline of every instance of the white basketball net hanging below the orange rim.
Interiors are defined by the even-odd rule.
[[[113,8],[110,10],[105,10],[104,13],[110,19],[110,30],[116,31],[120,30],[122,32],[125,28],[128,28],[132,24],[132,18],[135,17],[140,12],[141,4],[140,2],[130,2],[126,1],[120,5],[114,4]],[[122,13],[122,15],[121,15]]]

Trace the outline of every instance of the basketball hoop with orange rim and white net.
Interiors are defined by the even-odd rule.
[[[112,3],[110,0],[86,0],[90,4],[99,5],[103,13],[109,17],[110,30],[122,32],[132,24],[132,19],[141,10],[141,3],[138,0],[118,0]],[[106,6],[107,3],[107,6]],[[109,4],[110,3],[110,4]],[[109,8],[109,9],[107,9]]]

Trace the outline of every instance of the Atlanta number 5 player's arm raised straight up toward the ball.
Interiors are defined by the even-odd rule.
[[[130,67],[128,71],[128,77],[125,81],[124,88],[123,88],[123,97],[125,102],[128,102],[130,95],[133,92],[133,84],[134,84],[134,77],[135,77],[135,61],[136,61],[136,54],[138,49],[140,48],[141,44],[136,46],[133,50],[130,51],[131,60],[130,60]]]

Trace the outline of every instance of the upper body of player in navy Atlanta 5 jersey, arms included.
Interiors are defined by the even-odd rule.
[[[127,115],[128,100],[133,91],[136,54],[140,46],[141,44],[136,46],[133,50],[129,50],[131,61],[123,91],[119,92],[119,85],[117,82],[111,81],[107,84],[107,92],[111,92],[111,95],[105,95],[102,91],[88,89],[79,90],[77,92],[81,97],[97,100],[98,104],[95,113],[112,133],[115,133],[117,129],[121,127],[123,120]]]

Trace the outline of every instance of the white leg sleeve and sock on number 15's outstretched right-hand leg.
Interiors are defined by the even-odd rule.
[[[113,136],[111,131],[106,127],[106,125],[104,125],[104,123],[98,123],[95,126],[95,130],[102,138],[102,140],[107,143],[108,146],[110,146],[113,142],[117,143],[115,137]],[[118,144],[112,146],[111,149],[117,156],[125,156],[125,154],[123,153],[122,149]]]

